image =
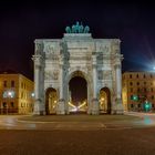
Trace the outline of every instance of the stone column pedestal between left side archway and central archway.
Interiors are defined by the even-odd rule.
[[[64,102],[63,99],[59,100],[56,114],[58,115],[64,115],[65,114],[65,102]]]

